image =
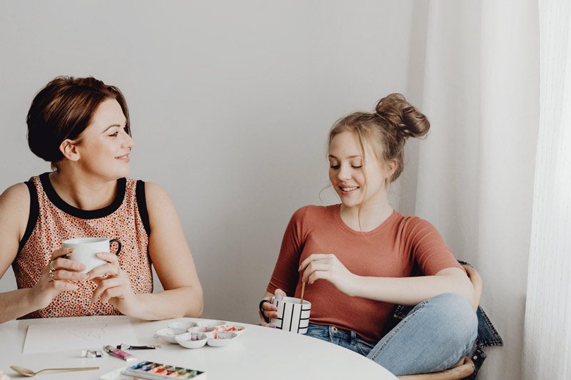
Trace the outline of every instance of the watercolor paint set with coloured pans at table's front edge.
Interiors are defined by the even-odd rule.
[[[101,376],[101,380],[168,380],[197,379],[206,380],[206,372],[198,369],[171,366],[170,364],[141,361],[133,366],[123,367]]]

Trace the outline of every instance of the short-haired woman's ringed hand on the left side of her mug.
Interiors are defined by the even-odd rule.
[[[77,290],[78,286],[69,280],[84,281],[87,274],[81,273],[85,265],[69,260],[73,248],[59,248],[51,254],[51,261],[41,272],[39,281],[32,288],[32,304],[37,309],[48,307],[51,301],[64,290]]]

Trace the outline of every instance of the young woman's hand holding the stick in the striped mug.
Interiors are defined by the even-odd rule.
[[[301,281],[313,284],[318,279],[326,279],[341,292],[353,297],[357,276],[349,272],[345,265],[333,254],[313,253],[301,262]]]

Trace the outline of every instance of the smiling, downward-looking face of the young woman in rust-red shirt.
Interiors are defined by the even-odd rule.
[[[345,207],[375,204],[387,196],[385,179],[394,165],[381,165],[370,144],[363,145],[364,159],[357,135],[345,131],[335,135],[329,146],[329,180]]]

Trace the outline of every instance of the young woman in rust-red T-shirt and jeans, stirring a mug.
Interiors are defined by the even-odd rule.
[[[395,375],[440,371],[468,354],[477,335],[470,279],[433,225],[388,202],[405,141],[429,128],[425,115],[395,93],[374,112],[333,125],[329,180],[341,202],[305,206],[291,217],[260,303],[262,324],[278,317],[271,297],[300,297],[305,282],[307,334]],[[413,306],[396,326],[395,304]]]

